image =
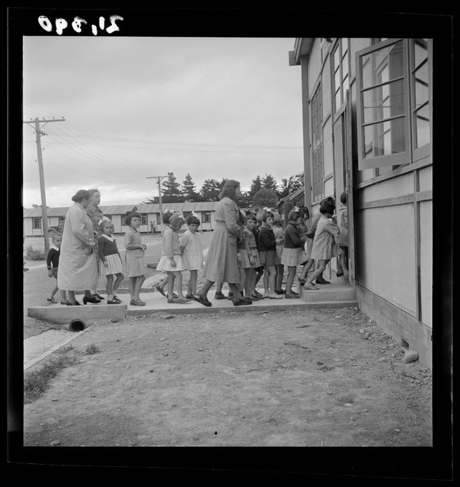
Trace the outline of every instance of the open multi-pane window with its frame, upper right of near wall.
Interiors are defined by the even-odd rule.
[[[388,39],[356,53],[360,170],[394,168],[431,153],[427,41]]]

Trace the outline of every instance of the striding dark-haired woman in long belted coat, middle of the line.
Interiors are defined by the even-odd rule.
[[[219,195],[219,205],[216,208],[214,232],[212,233],[207,252],[204,276],[206,281],[198,293],[198,302],[205,306],[212,306],[207,299],[207,292],[214,282],[228,282],[233,293],[235,306],[251,304],[239,292],[239,266],[237,260],[237,241],[243,238],[238,225],[239,182],[229,179],[225,182]]]

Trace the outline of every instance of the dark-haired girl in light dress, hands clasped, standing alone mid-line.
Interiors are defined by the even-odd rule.
[[[138,227],[141,226],[141,215],[132,211],[125,218],[128,230],[125,232],[125,259],[123,261],[123,273],[129,278],[129,294],[134,306],[145,306],[139,298],[141,287],[145,281],[144,254],[147,246],[142,243]]]

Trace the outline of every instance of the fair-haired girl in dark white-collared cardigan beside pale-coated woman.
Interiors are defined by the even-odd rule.
[[[122,274],[123,264],[117,241],[113,237],[113,223],[110,220],[100,220],[99,227],[102,232],[98,241],[99,275],[107,278],[107,304],[120,304],[121,300],[115,293],[125,276]],[[115,282],[113,282],[114,274]]]

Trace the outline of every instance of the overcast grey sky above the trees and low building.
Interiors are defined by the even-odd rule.
[[[24,120],[42,128],[47,206],[96,187],[101,205],[158,195],[155,179],[303,170],[294,38],[24,37]],[[43,125],[43,124],[40,124]],[[40,205],[34,127],[24,124],[23,205]]]

